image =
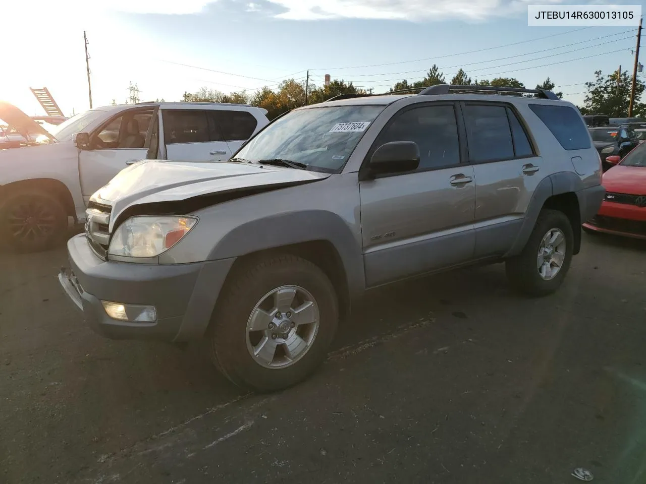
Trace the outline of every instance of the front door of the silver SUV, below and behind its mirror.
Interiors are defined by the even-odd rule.
[[[371,146],[366,161],[390,141],[414,141],[421,159],[414,172],[360,181],[369,287],[472,259],[474,168],[459,126],[454,103],[416,104],[395,114]]]

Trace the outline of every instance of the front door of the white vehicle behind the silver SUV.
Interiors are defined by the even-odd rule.
[[[79,178],[86,204],[123,168],[157,157],[157,116],[157,107],[128,110],[90,134],[90,149],[79,152]]]

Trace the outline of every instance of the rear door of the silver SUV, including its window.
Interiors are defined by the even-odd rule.
[[[475,257],[503,255],[545,176],[542,159],[512,105],[463,102],[461,108],[475,174]]]

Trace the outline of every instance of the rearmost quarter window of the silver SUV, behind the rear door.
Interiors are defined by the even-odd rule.
[[[566,150],[590,148],[590,135],[583,119],[574,108],[554,105],[529,105]]]

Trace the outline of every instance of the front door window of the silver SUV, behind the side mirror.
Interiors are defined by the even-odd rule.
[[[442,168],[460,163],[460,144],[453,105],[422,106],[395,115],[379,135],[375,149],[391,141],[414,141],[419,146],[419,168]]]

